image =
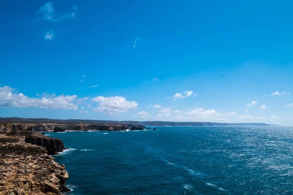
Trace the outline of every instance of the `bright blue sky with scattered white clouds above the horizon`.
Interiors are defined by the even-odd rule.
[[[292,6],[3,1],[0,117],[293,126]]]

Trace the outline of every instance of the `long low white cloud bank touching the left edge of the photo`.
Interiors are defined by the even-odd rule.
[[[20,92],[15,92],[9,86],[0,87],[0,107],[18,107],[18,108],[49,108],[49,109],[64,109],[77,110],[75,104],[77,96],[60,95],[43,93],[40,98],[30,98]]]

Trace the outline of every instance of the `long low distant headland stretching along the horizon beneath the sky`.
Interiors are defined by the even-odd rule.
[[[0,122],[10,123],[58,123],[58,124],[133,124],[142,126],[281,126],[266,123],[219,123],[219,122],[172,122],[172,121],[132,121],[132,120],[87,120],[0,117]]]

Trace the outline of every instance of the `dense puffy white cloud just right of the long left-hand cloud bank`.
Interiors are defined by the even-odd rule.
[[[95,112],[104,112],[110,115],[134,110],[138,106],[136,101],[126,101],[126,98],[119,96],[109,98],[99,96],[92,98],[92,101],[100,102],[100,105],[94,108]]]

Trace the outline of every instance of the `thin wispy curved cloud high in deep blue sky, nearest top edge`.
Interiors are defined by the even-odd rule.
[[[41,6],[37,13],[38,13],[38,17],[42,20],[51,21],[51,22],[60,22],[67,18],[74,18],[76,15],[76,11],[77,11],[77,6],[74,5],[72,8],[72,11],[67,12],[67,14],[63,16],[58,16],[55,13],[53,2],[49,1],[49,2],[46,2],[43,6]]]

